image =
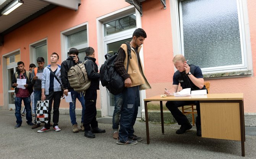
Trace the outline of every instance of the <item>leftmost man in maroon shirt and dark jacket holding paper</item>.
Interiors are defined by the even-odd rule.
[[[26,119],[28,125],[33,126],[31,106],[30,106],[30,95],[33,92],[32,84],[29,81],[31,76],[30,72],[26,72],[24,62],[19,61],[17,63],[18,71],[13,73],[11,86],[15,89],[15,116],[16,116],[16,126],[18,128],[21,126],[21,102],[23,100],[26,109]]]

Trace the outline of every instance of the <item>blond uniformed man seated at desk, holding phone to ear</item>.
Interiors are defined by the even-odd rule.
[[[188,65],[185,57],[181,54],[176,55],[172,62],[177,71],[173,75],[172,88],[169,91],[165,90],[164,94],[171,95],[176,93],[179,83],[182,89],[191,88],[191,91],[206,89],[201,68],[195,65]],[[178,107],[189,104],[196,105],[198,114],[196,117],[196,135],[202,136],[199,101],[168,101],[166,103],[166,107],[171,111],[178,124],[181,125],[180,129],[176,131],[176,134],[183,134],[186,130],[192,128],[188,118],[178,109]]]

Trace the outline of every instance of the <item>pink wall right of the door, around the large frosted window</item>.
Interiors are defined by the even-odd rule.
[[[142,27],[147,32],[144,42],[145,72],[151,90],[146,91],[146,96],[151,97],[163,94],[164,88],[172,87],[172,76],[174,73],[172,30],[170,22],[169,0],[166,0],[167,10],[157,0],[143,2]],[[256,66],[256,1],[247,0],[250,22],[251,49],[253,56],[253,70]],[[206,79],[207,80],[207,79]],[[209,80],[209,79],[208,79]],[[244,93],[244,110],[256,113],[256,78],[228,78],[210,79],[211,93]]]

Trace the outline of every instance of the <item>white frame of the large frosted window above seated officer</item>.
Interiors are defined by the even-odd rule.
[[[179,0],[170,0],[170,10],[171,10],[171,22],[172,22],[172,39],[173,39],[173,53],[174,56],[177,54],[184,55],[183,49],[183,35],[182,26],[180,26],[180,15],[178,13]],[[243,64],[233,66],[222,66],[222,67],[212,67],[212,68],[202,68],[203,74],[208,73],[222,73],[222,72],[237,72],[237,71],[251,71],[253,73],[253,62],[252,62],[252,52],[251,52],[251,41],[250,41],[250,28],[247,10],[246,0],[237,0],[238,8],[238,21],[239,21],[239,31],[240,31],[240,43],[242,52]]]

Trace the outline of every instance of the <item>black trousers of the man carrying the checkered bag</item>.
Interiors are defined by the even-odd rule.
[[[53,127],[55,127],[58,125],[58,122],[59,122],[59,116],[60,116],[59,108],[60,108],[60,98],[62,96],[62,91],[57,91],[57,92],[50,91],[49,94],[45,96],[46,96],[45,100],[49,100],[49,107],[48,107],[48,113],[47,113],[49,116],[49,120],[47,123],[45,123],[44,127],[46,129],[50,129],[52,101],[54,101],[52,121],[53,121]]]

